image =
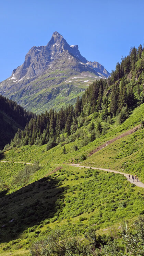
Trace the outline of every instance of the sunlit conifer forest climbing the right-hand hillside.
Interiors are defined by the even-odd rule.
[[[94,82],[84,92],[82,98],[77,98],[75,107],[69,105],[59,112],[46,111],[44,114],[32,118],[25,130],[15,135],[12,146],[43,145],[48,143],[47,149],[56,146],[73,135],[78,127],[82,127],[86,117],[95,113],[97,131],[92,127],[90,141],[105,133],[112,117],[117,117],[121,124],[128,118],[130,110],[144,102],[144,49],[133,47],[130,54],[117,63],[116,70],[111,77]],[[75,138],[72,138],[74,141]]]

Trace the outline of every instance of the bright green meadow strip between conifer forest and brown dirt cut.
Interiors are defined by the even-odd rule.
[[[106,141],[113,139],[118,135],[122,134],[123,132],[128,131],[129,129],[139,125],[141,123],[141,120],[144,118],[144,104],[135,108],[131,113],[130,117],[127,120],[125,120],[123,124],[121,125],[116,125],[115,123],[111,124],[110,128],[107,130],[107,133],[105,135],[100,135],[94,141],[84,145],[83,142],[85,141],[85,139],[87,137],[90,139],[91,124],[94,124],[96,127],[97,118],[98,117],[95,118],[95,113],[87,117],[86,125],[77,129],[77,131],[73,134],[73,136],[76,137],[73,142],[69,141],[69,139],[72,137],[72,135],[70,135],[68,138],[66,136],[60,136],[60,140],[62,142],[60,142],[56,147],[49,149],[48,151],[47,151],[46,145],[43,145],[43,146],[26,145],[20,148],[12,148],[11,150],[4,152],[3,154],[4,160],[34,163],[35,159],[37,159],[40,164],[44,164],[44,165],[49,164],[51,167],[53,167],[53,165],[56,165],[56,164],[61,164],[63,163],[63,161],[65,161],[66,163],[69,163],[71,161],[74,161],[75,163],[82,162],[81,156],[83,154],[88,156],[89,152],[96,149],[99,145],[102,145]],[[137,132],[138,131],[136,131],[133,134],[133,136],[135,136]],[[143,129],[140,130],[139,132],[143,133]],[[129,135],[129,136],[132,136],[132,135]],[[124,137],[123,139],[125,140],[125,138],[126,137]],[[75,144],[77,144],[78,146],[78,150],[76,151],[73,148],[73,145]],[[62,153],[63,145],[65,145],[65,150],[67,152],[66,154]],[[132,143],[132,146],[133,146],[133,143]],[[110,145],[107,147],[110,147]],[[103,150],[107,150],[107,148]],[[118,148],[117,150],[115,150],[115,154],[117,153],[117,151],[119,151]],[[88,159],[91,159],[91,158],[88,158]],[[97,167],[100,167],[99,166],[100,164],[101,162],[98,164]]]

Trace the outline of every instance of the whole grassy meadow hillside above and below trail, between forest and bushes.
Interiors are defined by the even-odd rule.
[[[1,252],[10,249],[16,252],[15,250],[21,247],[22,250],[28,249],[28,244],[38,236],[46,235],[49,228],[56,226],[64,228],[66,225],[68,229],[69,220],[70,229],[79,230],[79,234],[82,235],[87,225],[97,224],[98,232],[103,232],[108,226],[118,226],[121,218],[132,219],[142,213],[144,190],[133,187],[133,184],[127,182],[122,175],[103,171],[95,173],[84,168],[65,165],[61,171],[51,175],[51,180],[44,176],[60,166],[63,161],[71,162],[71,159],[80,159],[83,153],[88,155],[100,144],[138,125],[143,115],[144,104],[137,107],[122,125],[111,125],[106,135],[79,148],[78,151],[74,151],[72,146],[76,143],[79,145],[79,140],[65,145],[66,154],[62,154],[63,147],[60,145],[49,151],[46,151],[46,145],[43,145],[41,147],[25,146],[5,152],[4,160],[33,162],[36,159],[42,166],[30,177],[29,183],[33,183],[23,188],[22,184],[12,184],[12,176],[24,166],[0,163],[1,181],[4,182],[7,179],[7,185],[11,186],[7,191],[8,194],[0,199],[2,215],[0,226],[6,225],[2,230],[3,242],[20,238],[15,240],[17,242],[14,242],[14,245],[13,242],[2,244]],[[136,166],[137,158],[143,149],[143,132],[143,129],[140,129],[132,135],[113,142],[87,158],[83,164],[91,163],[98,167],[109,165],[114,170],[123,168],[124,172],[130,172],[123,163],[127,161],[131,164],[130,166],[133,164]],[[13,218],[14,221],[9,223]]]

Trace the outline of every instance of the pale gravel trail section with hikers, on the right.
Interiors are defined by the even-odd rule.
[[[119,174],[124,175],[130,183],[133,183],[137,187],[144,188],[144,184],[141,181],[137,182],[137,180],[134,180],[134,182],[133,182],[132,175],[129,179],[129,174],[127,174],[127,173],[122,173],[122,172],[118,172],[118,171],[114,171],[114,170],[110,170],[110,169],[97,168],[97,167],[92,167],[92,166],[83,166],[83,165],[80,165],[80,164],[66,164],[66,165],[71,165],[71,166],[75,166],[75,167],[82,167],[82,168],[92,168],[92,169],[106,171],[106,172],[119,173]]]

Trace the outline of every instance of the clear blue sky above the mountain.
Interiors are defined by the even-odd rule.
[[[0,2],[0,81],[22,65],[32,46],[46,45],[54,31],[109,72],[131,46],[143,46],[143,0]]]

